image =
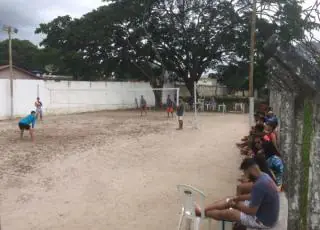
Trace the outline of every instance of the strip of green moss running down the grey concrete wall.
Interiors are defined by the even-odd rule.
[[[304,103],[304,121],[303,121],[303,143],[302,143],[302,186],[300,193],[300,228],[307,230],[307,213],[308,213],[308,191],[309,191],[309,165],[310,165],[310,149],[313,135],[312,130],[312,104],[309,100]]]

